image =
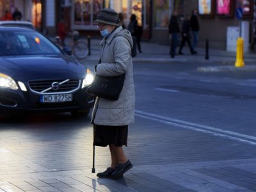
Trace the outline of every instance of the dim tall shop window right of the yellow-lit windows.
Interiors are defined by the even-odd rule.
[[[155,28],[167,28],[169,21],[169,0],[154,0]]]

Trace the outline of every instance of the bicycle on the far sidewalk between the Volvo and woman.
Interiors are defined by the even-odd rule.
[[[79,40],[79,32],[78,31],[72,31],[72,33],[70,33],[72,35],[72,42],[73,45],[72,47],[72,52],[74,54],[74,56],[76,56],[78,59],[83,60],[84,58],[86,58],[86,56],[88,56],[88,46],[85,42]],[[58,47],[60,47],[60,49],[63,49],[63,44],[60,40],[60,36],[56,36],[56,45],[58,45]]]

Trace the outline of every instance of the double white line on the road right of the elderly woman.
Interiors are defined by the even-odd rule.
[[[168,125],[175,125],[177,127],[191,129],[193,131],[205,132],[208,134],[213,134],[214,136],[220,136],[220,137],[228,138],[231,140],[236,140],[236,141],[241,141],[244,143],[250,143],[252,145],[256,145],[256,142],[254,142],[256,141],[255,136],[241,134],[239,132],[227,131],[224,129],[219,129],[219,128],[211,127],[207,125],[195,124],[195,123],[186,122],[186,121],[175,119],[175,118],[170,118],[167,116],[156,115],[154,113],[147,113],[145,111],[140,111],[140,110],[135,110],[135,115],[140,116],[141,118],[147,118],[147,119],[154,120],[156,122],[160,122]],[[253,141],[250,141],[250,140],[253,140]]]

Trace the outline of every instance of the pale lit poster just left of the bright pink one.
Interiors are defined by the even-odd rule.
[[[214,0],[198,0],[198,13],[203,17],[214,17]]]

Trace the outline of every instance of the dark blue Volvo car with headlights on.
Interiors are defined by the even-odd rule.
[[[93,74],[44,35],[0,26],[0,112],[70,111],[87,115]]]

